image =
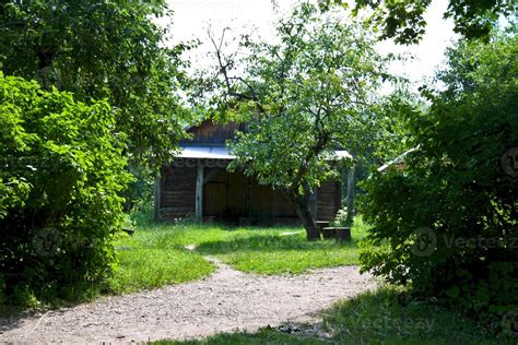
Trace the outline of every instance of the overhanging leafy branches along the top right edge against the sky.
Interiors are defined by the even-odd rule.
[[[395,38],[400,44],[417,43],[425,32],[423,17],[432,0],[357,0],[354,12],[370,10],[370,21],[381,29],[380,38]],[[320,2],[323,10],[333,4],[348,7],[343,0]],[[454,19],[456,33],[467,38],[487,38],[498,16],[516,16],[517,4],[514,0],[449,0],[444,17]]]

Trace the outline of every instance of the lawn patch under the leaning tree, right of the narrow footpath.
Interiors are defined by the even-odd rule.
[[[197,241],[197,251],[248,273],[298,274],[310,269],[357,264],[356,241],[365,235],[360,230],[355,228],[355,240],[338,243],[334,240],[309,242],[301,228],[235,229],[214,233],[213,238]]]

